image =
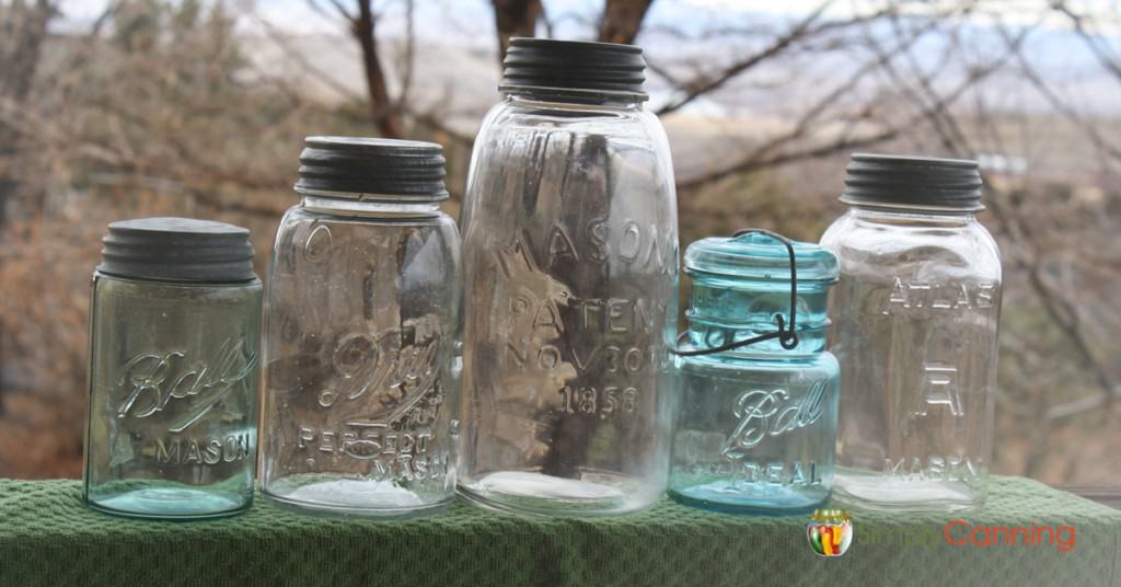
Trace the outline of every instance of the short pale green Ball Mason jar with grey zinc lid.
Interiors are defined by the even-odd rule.
[[[260,320],[249,230],[109,226],[90,304],[90,507],[179,520],[249,508]]]

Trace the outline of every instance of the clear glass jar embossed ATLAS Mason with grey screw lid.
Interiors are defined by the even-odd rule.
[[[880,510],[978,506],[1001,300],[997,244],[974,215],[978,164],[858,154],[845,184],[849,212],[822,237],[841,262],[834,493]]]

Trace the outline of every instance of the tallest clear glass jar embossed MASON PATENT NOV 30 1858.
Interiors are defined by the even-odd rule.
[[[461,492],[602,515],[665,489],[677,204],[627,45],[516,38],[464,196]]]

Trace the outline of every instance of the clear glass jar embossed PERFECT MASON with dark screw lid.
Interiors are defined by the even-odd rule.
[[[439,145],[309,137],[268,276],[261,490],[414,515],[455,495],[462,274]]]

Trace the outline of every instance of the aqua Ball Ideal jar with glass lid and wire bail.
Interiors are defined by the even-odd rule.
[[[670,497],[725,512],[813,510],[833,485],[839,374],[824,347],[836,258],[745,230],[691,245],[685,272]]]

